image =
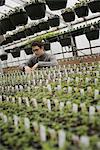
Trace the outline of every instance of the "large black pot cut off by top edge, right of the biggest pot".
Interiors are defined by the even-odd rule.
[[[50,10],[59,10],[66,8],[67,0],[46,0]]]

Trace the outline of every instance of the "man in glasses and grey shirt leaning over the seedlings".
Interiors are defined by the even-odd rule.
[[[33,56],[27,63],[20,66],[20,69],[26,73],[31,73],[36,68],[50,67],[58,64],[54,55],[45,52],[42,42],[33,42],[32,51]]]

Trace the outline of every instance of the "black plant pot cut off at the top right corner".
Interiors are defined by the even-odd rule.
[[[89,1],[88,6],[92,13],[100,12],[100,0]]]

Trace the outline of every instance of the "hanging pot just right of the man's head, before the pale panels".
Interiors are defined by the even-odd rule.
[[[69,36],[68,33],[59,35],[58,41],[60,42],[62,47],[71,45],[71,37]]]

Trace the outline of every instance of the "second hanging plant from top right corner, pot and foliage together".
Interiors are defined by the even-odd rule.
[[[74,11],[76,15],[80,17],[88,16],[89,10],[85,0],[80,0],[74,6]]]

